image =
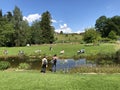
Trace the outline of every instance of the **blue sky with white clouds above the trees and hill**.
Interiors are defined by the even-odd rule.
[[[30,24],[49,11],[55,31],[64,33],[84,32],[103,15],[120,16],[120,0],[0,0],[3,14],[13,12],[15,6]]]

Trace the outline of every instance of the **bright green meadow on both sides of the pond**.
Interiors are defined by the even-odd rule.
[[[52,47],[52,50],[50,50],[50,47]],[[120,49],[120,46],[113,43],[101,43],[97,46],[79,43],[57,43],[25,47],[1,47],[0,56],[16,56],[19,50],[23,50],[25,55],[32,56],[36,55],[36,50],[41,50],[40,55],[53,56],[57,54],[58,57],[73,58],[80,49],[85,49],[85,53],[80,55],[94,56],[98,53],[115,53]],[[7,55],[3,53],[4,50],[8,51]],[[61,50],[65,51],[62,55],[60,54]],[[47,71],[45,74],[40,73],[39,70],[15,71],[16,69],[10,69],[0,71],[1,90],[120,90],[119,73],[92,74],[89,71],[85,72],[88,68],[82,69],[82,73],[80,73],[81,69],[75,69],[72,73],[51,73]]]

